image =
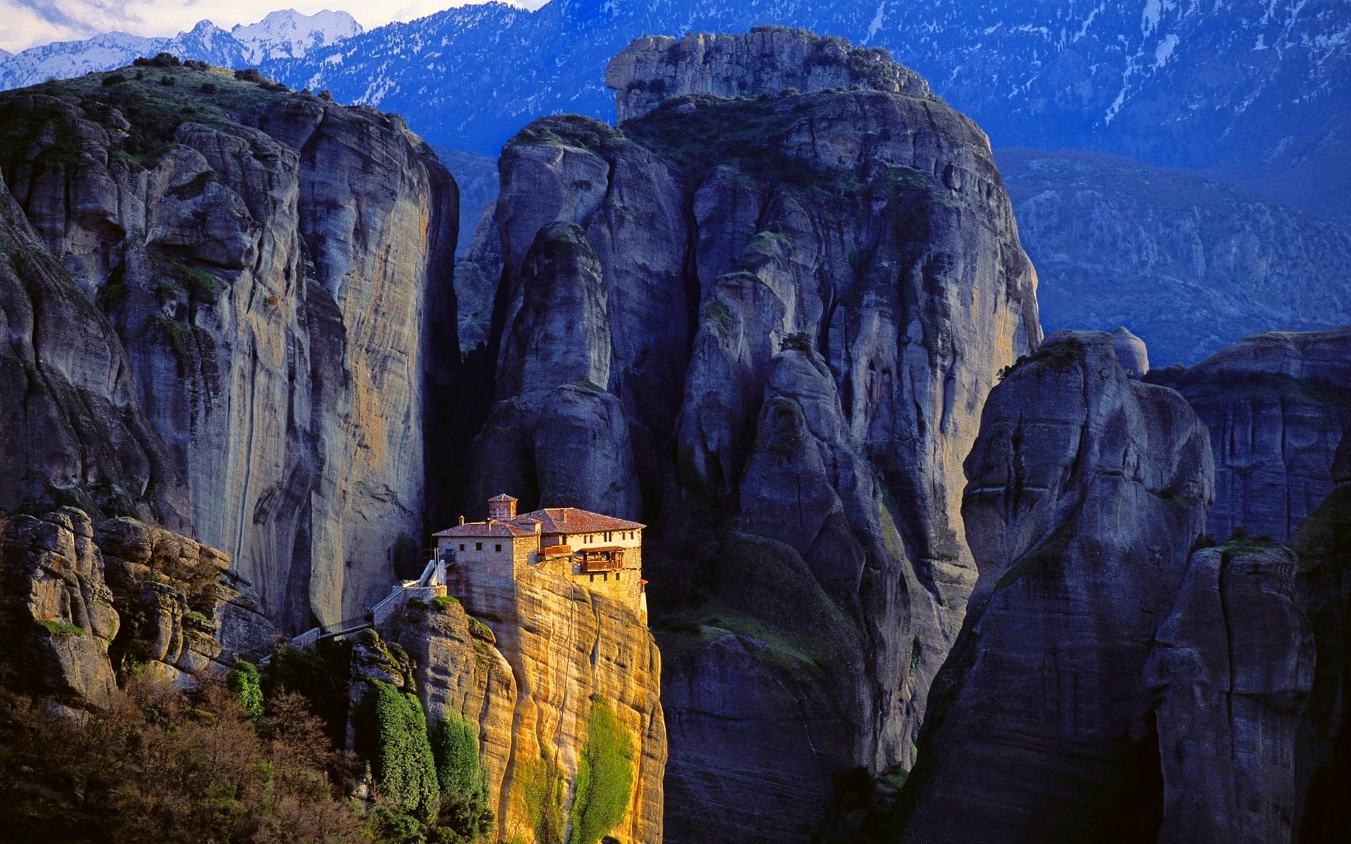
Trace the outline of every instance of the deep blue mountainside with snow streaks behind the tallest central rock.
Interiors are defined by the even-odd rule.
[[[888,47],[997,146],[1205,166],[1259,158],[1351,108],[1346,0],[489,3],[263,70],[404,112],[435,143],[494,154],[540,113],[612,116],[605,62],[638,35],[766,23]]]

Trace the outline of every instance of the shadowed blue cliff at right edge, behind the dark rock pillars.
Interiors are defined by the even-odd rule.
[[[1212,537],[1244,528],[1285,542],[1332,490],[1351,428],[1351,328],[1258,335],[1150,379],[1181,392],[1210,428]]]

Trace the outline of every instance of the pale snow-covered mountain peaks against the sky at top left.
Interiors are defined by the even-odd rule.
[[[161,51],[227,68],[251,66],[265,58],[297,59],[315,47],[336,45],[361,31],[361,24],[347,12],[301,15],[285,9],[272,12],[258,23],[236,26],[232,31],[203,20],[173,38],[104,32],[85,41],[54,42],[16,54],[0,51],[0,89],[109,70]]]

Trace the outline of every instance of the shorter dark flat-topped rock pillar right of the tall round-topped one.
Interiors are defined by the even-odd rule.
[[[1192,555],[1146,664],[1163,775],[1159,841],[1298,840],[1317,647],[1297,571],[1275,543]]]

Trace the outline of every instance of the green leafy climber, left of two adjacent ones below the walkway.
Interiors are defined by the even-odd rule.
[[[373,681],[358,712],[357,749],[370,759],[385,797],[419,821],[436,817],[440,809],[436,762],[416,695]]]

